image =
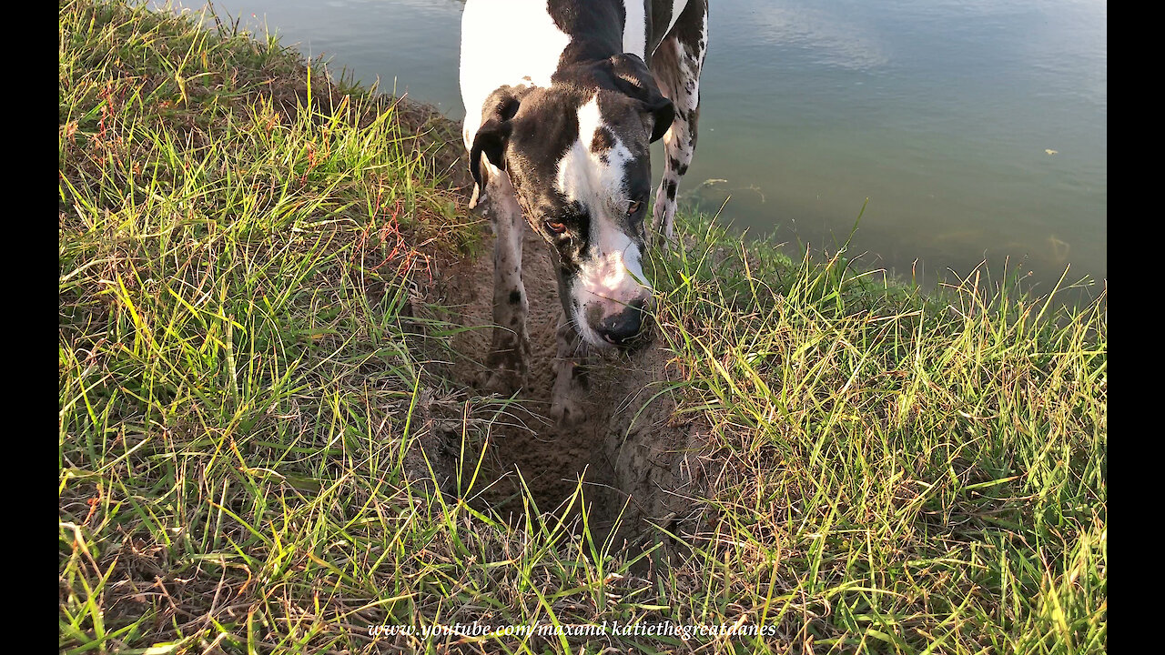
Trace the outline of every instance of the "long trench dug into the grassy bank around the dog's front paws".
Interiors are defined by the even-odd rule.
[[[430,126],[433,120],[446,119],[429,117]],[[445,128],[459,134],[458,127]],[[457,141],[435,155],[438,169],[452,178],[458,211],[485,224],[465,209],[465,190],[472,183],[463,160]],[[465,407],[476,400],[478,409],[469,430],[467,411],[459,415],[449,403],[433,403],[444,409],[423,416],[421,449],[405,460],[410,477],[418,483],[436,478],[443,493],[514,522],[534,510],[525,507],[532,500],[539,514],[565,517],[579,529],[585,507],[594,538],[613,536],[614,545],[663,543],[676,554],[668,534],[691,533],[709,479],[708,460],[701,457],[708,427],[698,414],[676,414],[677,372],[669,366],[672,354],[663,346],[659,328],[652,326],[654,338],[634,352],[588,362],[580,418],[570,425],[548,418],[562,304],[548,246],[527,227],[522,279],[529,302],[528,380],[513,399],[494,396],[490,402],[474,383],[489,354],[493,259],[493,237],[486,234],[473,256],[437,258],[432,280],[419,289],[418,309],[440,322],[445,333],[453,332],[452,352],[432,357],[428,367],[454,396],[469,399]],[[476,437],[467,438],[471,434]]]

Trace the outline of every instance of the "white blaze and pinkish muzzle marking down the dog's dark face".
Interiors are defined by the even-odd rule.
[[[619,314],[628,303],[643,297],[650,286],[643,277],[638,246],[620,226],[631,200],[623,189],[631,153],[609,128],[614,146],[601,153],[591,150],[595,133],[606,127],[598,96],[579,107],[578,115],[579,138],[558,162],[556,185],[566,199],[586,207],[591,218],[587,249],[571,287],[580,315],[572,318],[584,338],[601,343],[593,332],[587,333],[591,332],[587,307],[598,304],[601,316]]]

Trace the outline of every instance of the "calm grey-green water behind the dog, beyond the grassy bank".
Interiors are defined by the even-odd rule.
[[[456,0],[220,0],[460,120]],[[1107,277],[1104,0],[712,0],[684,200],[933,282]],[[658,145],[657,145],[658,146]],[[661,162],[656,149],[656,162]],[[658,177],[662,168],[655,167]],[[790,252],[796,252],[793,247]]]

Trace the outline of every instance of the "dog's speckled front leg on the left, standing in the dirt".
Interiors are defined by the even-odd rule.
[[[530,338],[525,329],[527,300],[522,283],[522,209],[509,177],[490,176],[488,213],[497,237],[494,244],[494,333],[481,383],[490,392],[511,394],[525,385]]]

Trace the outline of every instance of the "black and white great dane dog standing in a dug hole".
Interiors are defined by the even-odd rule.
[[[525,382],[523,221],[550,245],[563,315],[551,415],[570,423],[588,351],[628,347],[651,311],[641,256],[663,139],[652,238],[672,241],[696,148],[707,0],[468,0],[461,17],[465,147],[494,251],[486,388]]]

